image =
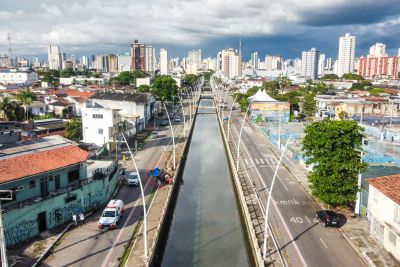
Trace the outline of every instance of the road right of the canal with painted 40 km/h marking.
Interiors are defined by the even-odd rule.
[[[233,111],[230,134],[236,141],[242,119],[239,111]],[[278,157],[248,122],[242,132],[240,155],[266,207],[267,188],[271,187]],[[318,205],[283,166],[278,170],[272,197],[269,220],[289,266],[365,266],[338,229],[317,223]]]

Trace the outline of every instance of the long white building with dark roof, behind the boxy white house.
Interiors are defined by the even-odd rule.
[[[156,99],[151,93],[97,92],[91,99],[105,108],[119,109],[121,120],[134,125],[136,131],[142,131],[155,113]]]

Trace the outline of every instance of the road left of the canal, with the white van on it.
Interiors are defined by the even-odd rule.
[[[185,107],[185,112],[187,108]],[[182,118],[181,113],[179,115]],[[185,116],[186,119],[189,116]],[[183,122],[174,123],[175,135],[182,131]],[[159,129],[159,137],[150,140],[135,156],[136,164],[142,177],[146,203],[156,186],[154,178],[147,176],[147,172],[154,167],[163,166],[166,160],[163,146],[172,142],[169,127]],[[172,147],[172,146],[171,146]],[[170,149],[172,149],[170,147]],[[132,162],[127,165],[127,172],[134,171]],[[139,187],[123,186],[117,199],[125,203],[125,215],[116,230],[102,231],[97,222],[102,209],[88,218],[87,223],[68,232],[53,253],[44,261],[44,266],[118,266],[119,260],[132,237],[132,233],[139,218],[143,214],[142,199]]]

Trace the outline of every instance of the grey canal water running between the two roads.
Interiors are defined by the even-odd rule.
[[[210,111],[199,110],[196,118],[161,266],[250,266],[217,116]]]

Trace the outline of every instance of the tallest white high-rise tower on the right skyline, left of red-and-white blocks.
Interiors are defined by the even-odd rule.
[[[356,51],[356,37],[346,33],[339,39],[339,54],[337,61],[337,75],[342,77],[345,73],[354,71],[354,55]]]

